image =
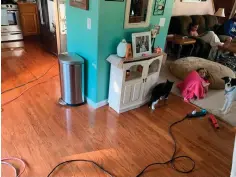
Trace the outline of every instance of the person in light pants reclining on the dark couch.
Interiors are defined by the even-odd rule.
[[[193,36],[193,37],[200,38],[204,42],[211,45],[212,48],[211,48],[210,55],[208,58],[215,58],[218,46],[227,47],[230,45],[230,43],[232,41],[232,38],[228,36],[225,39],[224,43],[220,42],[219,37],[213,31],[208,31],[203,34],[198,34],[198,27],[199,27],[199,24],[197,24],[197,23],[190,24],[189,35]]]

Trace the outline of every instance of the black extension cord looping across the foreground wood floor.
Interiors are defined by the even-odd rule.
[[[183,121],[184,121],[185,119],[187,119],[187,118],[188,118],[188,117],[186,116],[186,117],[184,117],[183,119],[178,120],[178,121],[172,123],[172,124],[169,126],[169,134],[170,134],[170,136],[171,136],[171,138],[172,138],[172,140],[173,140],[173,142],[174,142],[174,152],[173,152],[173,155],[171,156],[170,160],[168,160],[168,161],[166,161],[166,162],[156,162],[156,163],[149,164],[149,165],[147,165],[136,177],[140,177],[149,167],[151,167],[151,166],[153,166],[153,165],[166,165],[166,164],[170,164],[171,167],[172,167],[175,171],[177,171],[177,172],[179,172],[179,173],[191,173],[191,172],[195,169],[195,162],[194,162],[194,160],[193,160],[191,157],[189,157],[189,156],[175,156],[175,155],[176,155],[176,151],[177,151],[177,143],[176,143],[176,139],[175,139],[175,137],[174,137],[174,135],[173,135],[173,133],[172,133],[171,128],[172,128],[174,125],[176,125],[176,124],[178,124],[178,123],[180,123],[180,122],[183,122]],[[176,168],[176,166],[175,166],[175,161],[176,161],[177,159],[188,159],[188,160],[190,160],[190,161],[192,162],[192,168],[189,169],[189,170],[180,170],[180,169]],[[83,160],[83,159],[68,160],[68,161],[61,162],[61,163],[59,163],[56,167],[53,168],[53,170],[48,174],[47,177],[50,177],[50,175],[56,170],[57,167],[59,167],[59,166],[61,166],[61,165],[63,165],[63,164],[70,163],[70,162],[88,162],[88,163],[92,163],[92,164],[94,164],[95,166],[97,166],[99,169],[101,169],[102,171],[104,171],[106,174],[108,174],[110,177],[115,177],[115,176],[113,176],[110,172],[108,172],[107,170],[105,170],[102,166],[100,166],[99,164],[97,164],[96,162],[94,162],[94,161],[92,161],[92,160]]]

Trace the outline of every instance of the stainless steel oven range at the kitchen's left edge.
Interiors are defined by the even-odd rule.
[[[22,40],[19,11],[16,4],[1,5],[1,37],[2,42]]]

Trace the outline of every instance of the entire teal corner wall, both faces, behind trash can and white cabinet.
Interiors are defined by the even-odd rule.
[[[89,3],[89,11],[85,11],[71,7],[67,1],[67,47],[68,52],[76,52],[85,58],[85,95],[90,101],[98,103],[108,98],[110,64],[106,58],[116,53],[122,39],[131,42],[132,33],[149,29],[124,29],[126,0],[89,0]],[[155,0],[153,8],[154,3]],[[172,8],[173,0],[167,0],[164,15],[151,16],[151,24],[159,24],[160,18],[166,18],[155,46],[164,48]],[[92,30],[87,30],[88,17],[92,19]]]

